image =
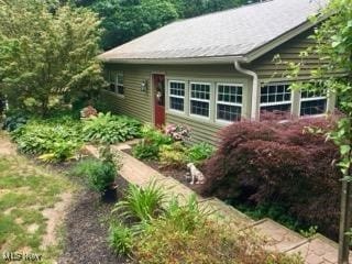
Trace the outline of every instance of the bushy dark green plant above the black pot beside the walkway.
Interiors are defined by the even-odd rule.
[[[80,161],[72,170],[73,175],[85,177],[88,186],[99,193],[103,193],[111,186],[117,173],[113,163],[97,158]]]

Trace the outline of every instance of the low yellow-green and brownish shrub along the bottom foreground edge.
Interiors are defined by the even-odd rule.
[[[209,220],[201,223],[185,232],[175,221],[153,219],[144,232],[134,240],[133,260],[144,264],[304,263],[297,255],[268,252],[265,240],[254,231],[238,232]]]

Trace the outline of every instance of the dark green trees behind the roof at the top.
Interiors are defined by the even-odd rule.
[[[116,47],[177,19],[239,7],[248,0],[76,0],[102,18],[102,47]],[[253,1],[252,1],[253,2]]]

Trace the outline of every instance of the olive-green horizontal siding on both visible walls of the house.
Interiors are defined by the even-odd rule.
[[[273,50],[268,54],[257,58],[255,62],[243,65],[257,73],[260,85],[267,82],[287,82],[286,65],[273,62],[275,55],[279,54],[283,62],[300,62],[299,54],[314,44],[312,40],[307,38],[310,32],[301,34],[292,41]],[[320,61],[310,55],[305,58],[306,66],[299,75],[299,79],[309,80],[310,70],[317,68]],[[119,97],[113,92],[105,91],[103,100],[117,113],[129,114],[144,122],[154,121],[154,96],[152,87],[152,74],[164,74],[166,77],[165,109],[166,123],[184,124],[191,129],[193,141],[206,141],[217,144],[217,132],[228,123],[217,122],[216,120],[216,85],[218,82],[242,84],[243,85],[243,106],[242,118],[250,119],[252,108],[252,79],[249,76],[238,73],[233,65],[122,65],[107,64],[107,72],[123,72],[124,75],[124,97]],[[148,82],[147,91],[141,91],[141,84]],[[186,82],[185,113],[169,110],[168,107],[168,81],[182,80]],[[211,107],[210,118],[197,118],[189,116],[189,92],[187,87],[190,81],[201,81],[211,84]],[[258,87],[260,89],[260,87]],[[260,97],[260,92],[258,92]],[[258,98],[260,103],[260,98]],[[257,106],[258,109],[260,106]],[[334,107],[334,97],[329,98],[328,109]],[[300,92],[294,91],[292,95],[292,113],[299,116]]]

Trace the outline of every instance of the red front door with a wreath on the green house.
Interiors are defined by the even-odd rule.
[[[154,122],[155,127],[165,124],[165,75],[153,75]]]

